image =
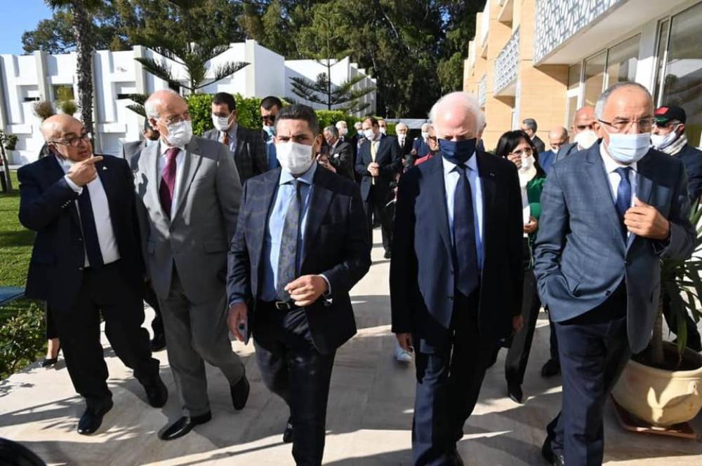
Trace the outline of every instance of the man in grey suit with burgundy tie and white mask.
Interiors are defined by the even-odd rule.
[[[154,92],[147,118],[161,135],[144,149],[135,174],[147,272],[166,330],[168,360],[185,416],[159,434],[177,439],[211,419],[204,361],[230,383],[234,409],[249,397],[244,365],[227,331],[227,250],[239,214],[234,160],[216,141],[192,137],[187,104],[172,90]]]

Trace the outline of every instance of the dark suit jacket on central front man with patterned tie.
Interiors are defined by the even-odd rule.
[[[280,172],[277,168],[244,184],[237,233],[229,252],[229,303],[246,301],[249,332],[253,331],[254,338],[263,242]],[[317,167],[311,196],[300,276],[323,273],[331,285],[331,301],[320,298],[305,313],[315,348],[329,354],[356,333],[349,290],[371,266],[371,240],[359,189],[352,181]]]

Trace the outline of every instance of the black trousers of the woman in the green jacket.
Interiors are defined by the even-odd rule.
[[[534,270],[524,270],[524,293],[522,294],[524,325],[512,338],[512,344],[505,359],[505,378],[508,383],[522,385],[524,381],[524,372],[527,370],[531,342],[534,340],[536,320],[540,309],[541,301],[538,299]]]

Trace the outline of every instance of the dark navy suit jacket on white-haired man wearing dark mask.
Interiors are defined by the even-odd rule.
[[[477,152],[483,198],[483,270],[479,331],[501,338],[522,312],[522,197],[514,164]],[[422,351],[449,343],[453,315],[453,246],[442,157],[399,181],[390,263],[392,331],[412,333]]]

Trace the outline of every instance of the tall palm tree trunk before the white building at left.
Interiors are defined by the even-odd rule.
[[[78,105],[86,131],[93,132],[93,44],[88,12],[79,2],[73,2],[73,34],[76,37]]]

